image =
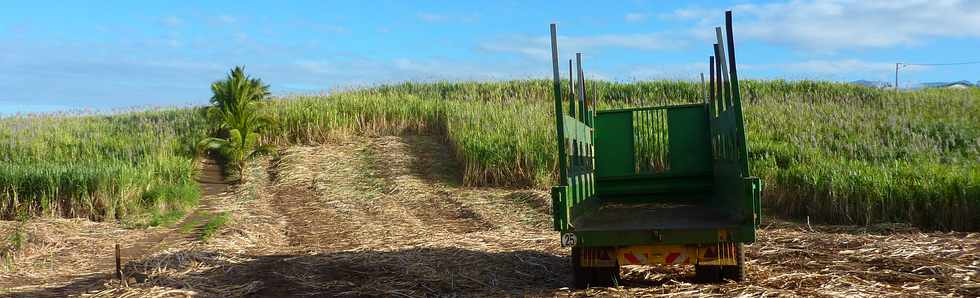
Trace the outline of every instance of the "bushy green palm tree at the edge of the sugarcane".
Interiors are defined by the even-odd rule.
[[[260,105],[269,96],[269,85],[246,75],[244,67],[236,66],[227,78],[211,84],[211,91],[214,95],[208,118],[216,124],[217,133],[227,138],[201,140],[198,153],[221,154],[238,171],[239,181],[245,181],[246,163],[275,151],[271,145],[259,144],[260,131],[270,123],[259,113]]]

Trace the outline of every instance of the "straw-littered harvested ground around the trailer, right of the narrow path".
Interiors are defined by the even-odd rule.
[[[254,163],[246,185],[209,198],[213,209],[232,214],[220,235],[207,243],[171,237],[127,265],[127,274],[146,275],[145,282],[109,282],[86,294],[980,295],[980,235],[784,222],[767,223],[749,247],[745,283],[699,285],[692,268],[630,267],[625,287],[571,292],[563,289],[568,252],[550,230],[547,195],[460,187],[449,156],[426,136],[290,148],[280,160]],[[0,284],[16,277],[0,274],[8,278]],[[8,294],[66,289],[79,287]]]

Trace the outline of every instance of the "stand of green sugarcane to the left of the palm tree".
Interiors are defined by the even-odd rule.
[[[192,178],[205,122],[192,109],[0,120],[0,217],[174,220],[199,197]]]

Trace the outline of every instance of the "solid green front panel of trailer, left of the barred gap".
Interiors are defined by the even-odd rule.
[[[633,175],[633,114],[603,113],[595,119],[596,174],[601,177]]]

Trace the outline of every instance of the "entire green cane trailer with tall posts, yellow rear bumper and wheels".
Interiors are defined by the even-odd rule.
[[[560,175],[551,197],[576,287],[614,285],[621,265],[690,264],[701,281],[744,278],[762,182],[749,172],[725,16],[727,47],[716,28],[703,103],[601,111],[585,96],[581,54],[575,86],[562,90],[551,25]]]

